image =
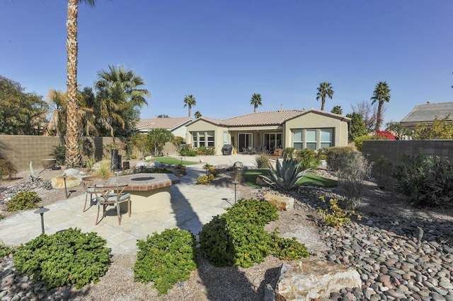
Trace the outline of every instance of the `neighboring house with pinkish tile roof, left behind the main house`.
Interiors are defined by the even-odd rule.
[[[135,126],[140,133],[147,133],[151,129],[168,129],[174,136],[185,138],[186,126],[193,122],[190,117],[162,117],[140,119]]]

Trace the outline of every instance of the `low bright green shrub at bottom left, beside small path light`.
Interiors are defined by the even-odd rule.
[[[21,244],[14,254],[14,266],[42,281],[47,288],[97,283],[108,270],[110,249],[96,232],[82,233],[69,228],[53,235],[42,234]]]

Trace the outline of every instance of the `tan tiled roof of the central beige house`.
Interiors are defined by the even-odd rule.
[[[347,122],[350,122],[350,118],[344,117],[342,115],[333,114],[331,112],[325,112],[321,110],[310,109],[308,111],[301,111],[301,110],[282,110],[282,111],[271,111],[271,112],[256,112],[236,117],[231,117],[227,119],[212,119],[208,117],[200,117],[196,119],[194,122],[198,120],[205,120],[206,122],[210,122],[212,124],[216,124],[219,126],[227,126],[227,127],[234,127],[234,126],[273,126],[273,125],[280,125],[287,122],[290,119],[299,117],[303,114],[316,113],[316,114],[323,114],[333,118],[340,118],[344,119]],[[193,123],[193,122],[192,122]]]

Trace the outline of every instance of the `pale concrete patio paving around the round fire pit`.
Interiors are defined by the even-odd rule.
[[[176,157],[180,158],[180,157]],[[197,156],[187,160],[201,160],[211,165],[233,165],[240,161],[252,166],[254,155]],[[159,209],[139,212],[132,207],[132,216],[122,216],[118,225],[116,212],[110,207],[108,216],[95,225],[97,206],[82,212],[85,195],[52,203],[44,214],[45,233],[53,234],[68,228],[79,228],[83,232],[97,232],[104,237],[113,254],[134,254],[137,240],[146,239],[153,232],[166,228],[190,230],[195,235],[213,216],[224,213],[224,208],[234,203],[234,189],[197,185],[195,179],[204,175],[203,164],[188,165],[188,175],[180,179],[180,184],[171,185],[171,203]],[[240,197],[240,196],[238,196]],[[0,220],[0,242],[18,245],[41,234],[40,214],[23,211],[11,218]]]

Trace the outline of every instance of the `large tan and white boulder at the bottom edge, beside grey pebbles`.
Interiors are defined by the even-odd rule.
[[[310,257],[282,264],[275,295],[285,300],[312,300],[330,297],[343,288],[362,288],[360,274],[354,268]]]

